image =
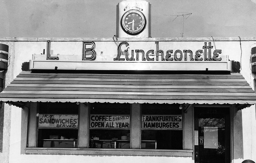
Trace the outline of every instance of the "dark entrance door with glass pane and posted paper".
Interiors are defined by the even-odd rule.
[[[195,163],[230,163],[229,107],[195,107]]]

